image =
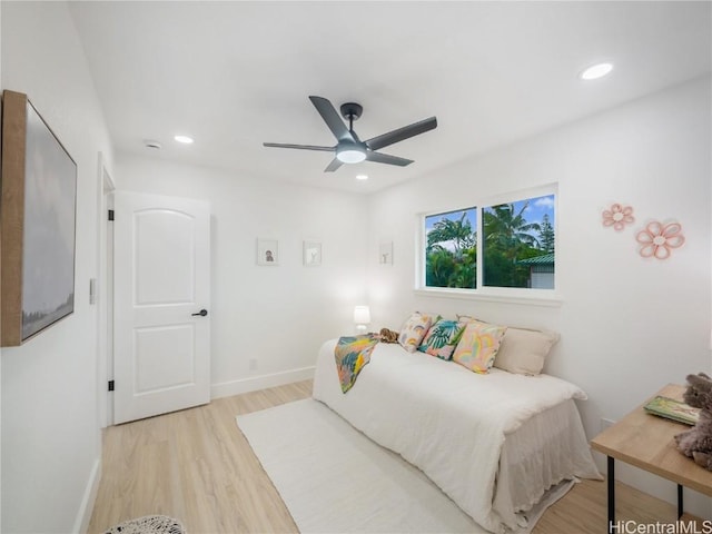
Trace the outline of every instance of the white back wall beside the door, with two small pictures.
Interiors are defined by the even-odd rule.
[[[214,397],[310,377],[322,342],[352,332],[366,297],[364,196],[127,155],[116,169],[117,190],[210,202]],[[279,239],[278,266],[257,266],[258,237]],[[303,265],[304,239],[322,241],[320,267]]]

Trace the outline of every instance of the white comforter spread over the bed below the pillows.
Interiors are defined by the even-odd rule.
[[[343,394],[335,345],[335,339],[326,342],[319,350],[315,398],[419,467],[485,528],[522,526],[516,511],[493,507],[505,436],[535,414],[586,398],[578,387],[548,375],[527,377],[498,369],[477,375],[453,362],[382,343],[354,387]],[[583,435],[582,428],[578,432]],[[586,458],[584,465],[568,477],[597,477],[587,447],[578,456]]]

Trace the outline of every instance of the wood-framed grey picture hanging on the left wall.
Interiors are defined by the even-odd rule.
[[[2,93],[1,345],[75,310],[77,164],[27,95]]]

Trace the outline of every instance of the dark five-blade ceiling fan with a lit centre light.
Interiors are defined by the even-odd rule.
[[[274,148],[296,148],[300,150],[320,150],[324,152],[334,152],[335,157],[332,162],[324,169],[325,172],[334,172],[343,164],[358,164],[360,161],[374,161],[376,164],[397,165],[405,167],[413,162],[412,159],[399,158],[397,156],[390,156],[388,154],[377,152],[376,150],[393,145],[398,141],[403,141],[411,137],[415,137],[419,134],[433,130],[437,127],[437,119],[431,117],[413,125],[404,126],[397,130],[382,134],[380,136],[373,137],[366,141],[362,141],[354,131],[354,121],[357,120],[364,108],[355,102],[347,102],[339,108],[342,117],[348,120],[348,128],[342,120],[342,118],[326,98],[323,97],[309,97],[312,103],[319,112],[326,126],[329,127],[334,137],[336,137],[337,144],[333,147],[319,147],[315,145],[288,145],[281,142],[265,142],[265,147]]]

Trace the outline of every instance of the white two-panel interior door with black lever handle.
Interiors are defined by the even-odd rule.
[[[209,205],[116,191],[113,209],[113,422],[209,403]]]

